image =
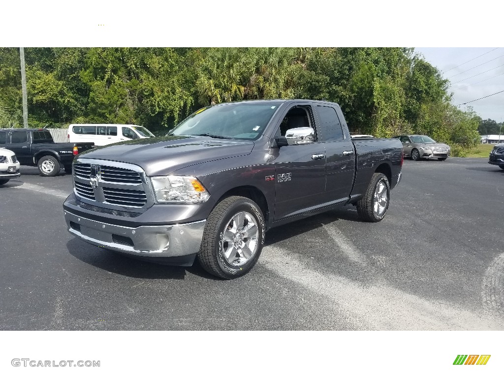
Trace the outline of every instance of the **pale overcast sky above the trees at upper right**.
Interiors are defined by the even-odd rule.
[[[502,121],[504,92],[497,92],[504,91],[504,48],[416,47],[415,50],[450,80],[454,105],[467,103],[460,108],[472,106],[481,118]],[[497,94],[482,98],[494,93]]]

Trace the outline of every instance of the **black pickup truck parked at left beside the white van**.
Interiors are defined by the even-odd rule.
[[[0,147],[13,151],[21,165],[38,166],[43,176],[55,176],[62,167],[72,172],[72,160],[94,143],[54,143],[44,129],[0,130]]]

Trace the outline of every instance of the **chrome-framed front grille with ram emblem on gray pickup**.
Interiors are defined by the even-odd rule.
[[[81,202],[135,212],[154,204],[148,178],[138,165],[78,158],[72,171],[74,193]]]

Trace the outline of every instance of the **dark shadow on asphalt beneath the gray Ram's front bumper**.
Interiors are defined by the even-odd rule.
[[[96,247],[78,239],[67,243],[70,255],[98,269],[133,278],[153,280],[183,280],[186,272],[211,280],[221,280],[207,273],[197,261],[192,267],[177,267],[151,263],[126,256],[110,249]]]

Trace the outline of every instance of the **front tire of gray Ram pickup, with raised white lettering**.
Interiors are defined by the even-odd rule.
[[[226,238],[225,228],[227,226],[233,224],[236,226],[236,229],[240,229],[237,222],[235,222],[235,219],[238,219],[240,214],[244,214],[244,227],[253,224],[253,226],[250,227],[250,230],[252,230],[251,232],[257,231],[257,235],[254,234],[255,237],[243,237],[244,233],[240,232],[234,234],[235,236],[238,234],[239,243],[247,245],[247,251],[250,251],[248,246],[253,244],[254,251],[252,251],[247,259],[241,247],[239,248],[241,252],[238,252],[238,249],[224,240]],[[247,216],[250,218],[250,222]],[[254,230],[254,227],[257,227],[257,230]],[[232,234],[233,228],[234,227],[227,229],[228,236]],[[203,233],[203,240],[198,253],[198,260],[203,269],[214,276],[224,279],[233,279],[243,276],[256,265],[261,255],[261,250],[263,249],[264,237],[264,216],[261,208],[254,201],[245,197],[227,197],[218,203],[208,216],[205,231]],[[232,256],[235,249],[236,253]],[[227,251],[230,251],[229,257],[226,257]],[[234,259],[234,261],[229,262],[229,259]]]

